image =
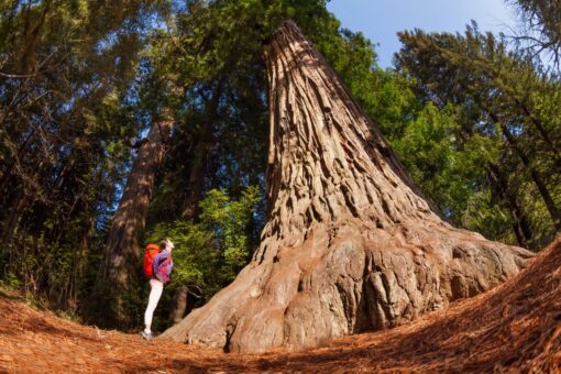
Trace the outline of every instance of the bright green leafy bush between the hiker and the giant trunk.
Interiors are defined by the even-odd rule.
[[[197,223],[175,220],[148,230],[146,243],[169,238],[175,244],[172,288],[187,285],[206,300],[233,280],[253,251],[246,229],[260,199],[255,186],[244,189],[239,200],[211,189],[200,201]]]

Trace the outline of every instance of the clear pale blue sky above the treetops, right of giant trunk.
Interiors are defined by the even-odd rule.
[[[457,32],[475,20],[482,31],[504,32],[516,25],[516,14],[504,0],[331,0],[328,9],[343,28],[362,31],[374,44],[382,67],[392,65],[399,50],[396,32],[413,30]]]

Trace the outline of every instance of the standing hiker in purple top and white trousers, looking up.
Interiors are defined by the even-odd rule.
[[[154,310],[156,309],[160,297],[162,296],[162,292],[164,290],[164,285],[169,282],[169,275],[172,274],[172,270],[174,267],[174,262],[172,260],[174,243],[169,239],[164,239],[160,243],[160,248],[162,251],[154,256],[152,262],[152,279],[150,279],[148,305],[146,307],[146,311],[144,312],[144,330],[141,332],[142,338],[148,341],[154,338],[151,329]]]

